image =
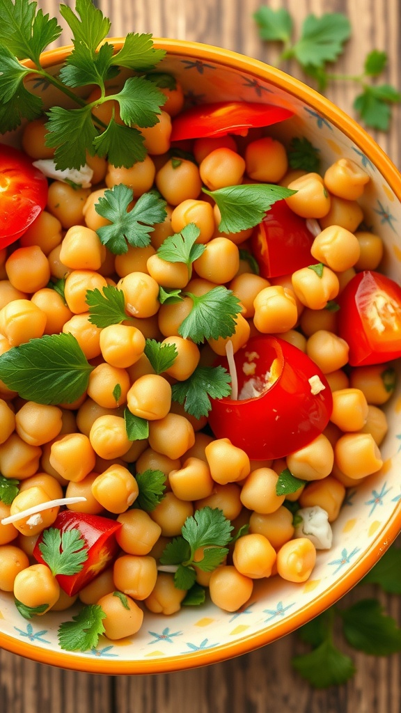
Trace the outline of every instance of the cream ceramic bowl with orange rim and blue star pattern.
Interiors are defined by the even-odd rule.
[[[118,50],[122,40],[113,43]],[[273,103],[293,111],[293,118],[271,128],[284,143],[305,136],[318,148],[322,168],[345,157],[362,166],[370,185],[360,200],[365,222],[385,242],[382,270],[401,280],[401,177],[374,140],[327,99],[295,78],[260,61],[222,48],[158,39],[167,51],[162,68],[181,82],[188,106],[240,99]],[[71,47],[44,53],[56,73]],[[36,89],[51,106],[54,89]],[[6,141],[18,143],[18,133]],[[0,645],[46,664],[105,674],[146,674],[184,670],[220,662],[273,642],[323,612],[352,588],[385,552],[401,528],[401,391],[385,407],[389,431],[381,446],[379,473],[347,491],[334,523],[333,546],[318,553],[313,575],[293,584],[274,577],[255,585],[247,604],[224,612],[211,602],[185,607],[171,617],[146,613],[135,637],[121,641],[101,637],[96,648],[65,652],[56,631],[65,612],[49,612],[29,622],[14,607],[11,595],[0,597]],[[69,612],[70,613],[70,612]]]

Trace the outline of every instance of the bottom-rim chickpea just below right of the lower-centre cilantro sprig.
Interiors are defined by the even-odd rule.
[[[226,612],[235,612],[252,595],[253,580],[233,566],[223,565],[212,572],[209,594],[213,604]]]

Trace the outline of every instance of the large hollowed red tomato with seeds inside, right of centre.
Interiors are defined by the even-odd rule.
[[[215,399],[209,425],[216,438],[230,438],[251,460],[283,458],[319,436],[333,409],[328,381],[318,366],[293,344],[268,335],[252,337],[235,355],[238,391],[247,379],[245,353],[256,352],[255,376],[264,377],[273,359],[278,359],[278,378],[260,396],[243,401]],[[225,359],[219,364],[227,366]],[[312,394],[308,379],[319,376],[325,389]]]

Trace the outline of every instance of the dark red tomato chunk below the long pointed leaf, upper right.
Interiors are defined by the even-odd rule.
[[[251,237],[253,255],[261,277],[290,275],[316,260],[310,255],[314,237],[301,218],[285,200],[275,202],[257,225]]]

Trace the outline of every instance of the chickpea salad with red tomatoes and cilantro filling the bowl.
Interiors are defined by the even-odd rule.
[[[23,122],[0,143],[0,590],[28,619],[81,602],[59,643],[84,651],[146,610],[308,580],[382,467],[401,287],[369,176],[273,138],[290,111],[188,108],[151,36],[114,53],[90,0],[61,6],[51,76],[61,29],[20,4],[0,1],[0,133]],[[28,73],[77,108],[44,112]]]

